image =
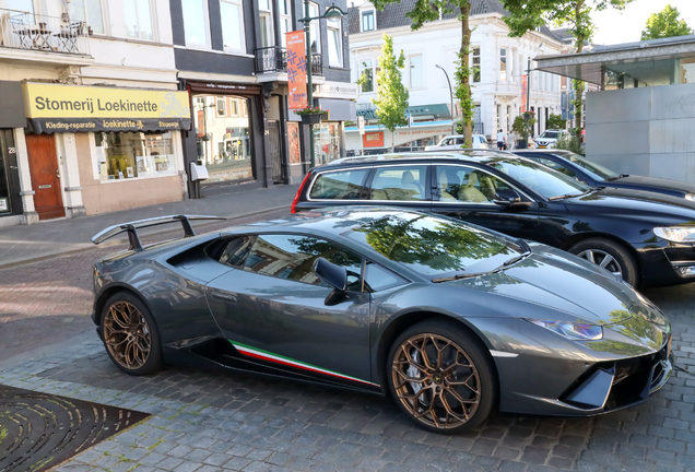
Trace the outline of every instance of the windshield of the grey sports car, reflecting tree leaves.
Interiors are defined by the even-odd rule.
[[[516,244],[483,228],[417,213],[375,220],[348,236],[422,275],[483,272],[522,252]]]

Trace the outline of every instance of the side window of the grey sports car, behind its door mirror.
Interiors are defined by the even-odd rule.
[[[348,287],[362,290],[362,258],[342,247],[311,236],[261,235],[246,258],[244,270],[315,285],[325,285],[314,273],[314,263],[319,257],[344,267],[348,271]]]

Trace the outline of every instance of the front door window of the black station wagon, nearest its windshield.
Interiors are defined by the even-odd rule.
[[[463,166],[436,167],[438,201],[492,203],[508,198],[515,190],[504,180],[484,170]]]

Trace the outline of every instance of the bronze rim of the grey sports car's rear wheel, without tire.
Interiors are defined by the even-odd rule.
[[[105,314],[104,342],[114,361],[128,370],[136,370],[150,358],[152,332],[138,307],[118,300]]]

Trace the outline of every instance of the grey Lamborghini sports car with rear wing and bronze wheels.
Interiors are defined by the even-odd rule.
[[[647,400],[672,371],[663,314],[603,269],[458,220],[327,209],[196,236],[165,216],[105,229],[94,267],[106,352],[391,396],[435,432],[498,409],[585,416]],[[138,229],[185,238],[142,247]]]

